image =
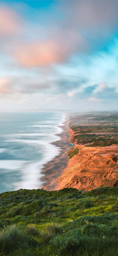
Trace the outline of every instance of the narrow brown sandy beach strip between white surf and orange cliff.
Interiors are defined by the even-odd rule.
[[[55,134],[60,137],[58,141],[53,141],[51,144],[61,148],[59,155],[55,156],[53,160],[46,163],[41,171],[44,176],[41,180],[44,182],[42,189],[44,190],[56,190],[59,187],[58,178],[61,176],[68,164],[68,151],[72,148],[72,142],[70,141],[69,127],[67,119],[62,126],[58,126],[63,129],[60,134]]]

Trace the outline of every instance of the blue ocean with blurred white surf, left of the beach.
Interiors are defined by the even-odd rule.
[[[41,188],[44,164],[57,156],[65,115],[61,112],[0,113],[0,193]]]

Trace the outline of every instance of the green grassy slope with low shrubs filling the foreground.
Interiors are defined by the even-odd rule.
[[[118,255],[118,187],[0,195],[0,254]]]

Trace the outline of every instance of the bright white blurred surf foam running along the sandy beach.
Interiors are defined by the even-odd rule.
[[[64,117],[64,116],[63,116]],[[43,158],[41,161],[37,162],[30,162],[30,161],[24,161],[25,165],[21,166],[21,178],[22,180],[19,182],[15,182],[13,186],[15,189],[20,188],[26,188],[26,189],[38,189],[41,188],[44,184],[44,181],[41,180],[41,178],[44,176],[44,174],[41,173],[42,169],[44,168],[44,165],[48,163],[49,161],[52,161],[53,158],[58,156],[62,150],[61,147],[58,147],[56,145],[53,145],[52,142],[57,141],[60,139],[59,135],[62,132],[62,128],[59,127],[63,125],[64,118],[57,124],[54,125],[41,125],[40,126],[30,126],[30,127],[51,127],[56,128],[54,134],[47,134],[49,136],[48,140],[34,140],[34,139],[7,139],[7,142],[18,142],[18,143],[27,143],[27,144],[35,144],[35,145],[43,145],[42,151],[43,151]],[[31,133],[32,134],[32,133]],[[18,134],[19,135],[19,134]],[[23,134],[21,134],[23,135]],[[28,134],[29,135],[29,134]],[[42,135],[42,134],[41,134]],[[24,135],[25,136],[25,135]],[[27,135],[26,135],[27,136]],[[18,168],[18,166],[16,166]],[[19,166],[20,168],[20,166]]]

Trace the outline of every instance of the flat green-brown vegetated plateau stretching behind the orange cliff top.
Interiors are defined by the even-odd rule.
[[[73,143],[90,147],[118,144],[118,113],[91,113],[70,117]]]

